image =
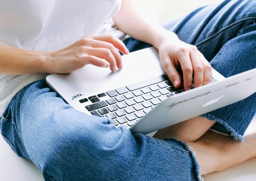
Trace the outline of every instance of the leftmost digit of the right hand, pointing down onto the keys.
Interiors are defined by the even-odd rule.
[[[181,83],[180,75],[177,72],[177,69],[175,68],[174,64],[172,63],[170,57],[169,56],[166,56],[166,57],[160,56],[160,59],[163,64],[163,69],[166,71],[172,84],[175,86],[175,88],[178,88]]]

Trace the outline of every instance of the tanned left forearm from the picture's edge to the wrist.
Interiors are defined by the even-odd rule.
[[[0,74],[47,73],[44,66],[47,56],[47,52],[0,47]]]

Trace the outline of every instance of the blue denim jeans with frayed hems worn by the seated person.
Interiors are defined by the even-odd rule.
[[[196,45],[213,68],[228,77],[256,68],[255,20],[255,1],[225,0],[163,26]],[[133,38],[124,42],[130,51],[151,46]],[[217,121],[215,131],[242,141],[255,111],[253,94],[203,116]],[[15,95],[1,117],[0,129],[17,155],[32,161],[46,181],[201,180],[186,143],[132,135],[126,127],[114,127],[108,118],[79,112],[45,80]]]

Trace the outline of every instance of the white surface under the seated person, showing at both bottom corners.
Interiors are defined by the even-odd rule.
[[[246,134],[256,132],[256,117]],[[44,181],[41,172],[31,162],[19,158],[0,136],[0,181]],[[256,158],[235,167],[204,176],[204,181],[256,181]]]

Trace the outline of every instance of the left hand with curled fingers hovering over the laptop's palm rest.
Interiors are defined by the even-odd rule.
[[[70,73],[87,64],[110,67],[115,72],[116,66],[122,69],[119,51],[123,54],[129,53],[125,44],[112,35],[86,36],[64,49],[51,52],[46,60],[46,72]]]

